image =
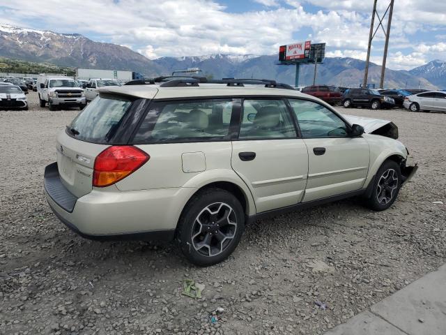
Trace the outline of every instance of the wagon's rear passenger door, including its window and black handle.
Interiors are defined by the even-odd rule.
[[[302,200],[308,172],[305,142],[282,99],[245,99],[232,168],[252,193],[256,212]]]

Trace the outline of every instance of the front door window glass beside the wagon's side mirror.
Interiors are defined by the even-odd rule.
[[[347,137],[345,122],[323,105],[312,101],[289,99],[298,119],[302,137]]]

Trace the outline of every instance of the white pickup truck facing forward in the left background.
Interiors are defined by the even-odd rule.
[[[58,107],[79,107],[81,110],[86,106],[84,89],[77,82],[66,76],[41,76],[37,80],[37,90],[40,107],[48,103],[49,110]]]

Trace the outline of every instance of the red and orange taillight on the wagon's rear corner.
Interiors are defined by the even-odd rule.
[[[108,147],[95,159],[93,186],[105,187],[141,168],[151,158],[132,146]]]

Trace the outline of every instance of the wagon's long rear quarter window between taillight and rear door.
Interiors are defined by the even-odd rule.
[[[240,100],[213,99],[153,103],[134,143],[226,140]]]

